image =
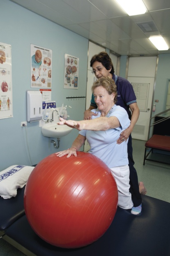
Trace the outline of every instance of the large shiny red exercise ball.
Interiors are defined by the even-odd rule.
[[[117,210],[117,185],[98,157],[49,155],[37,164],[24,194],[26,217],[46,242],[78,248],[98,240]]]

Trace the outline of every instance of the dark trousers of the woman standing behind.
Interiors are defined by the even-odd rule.
[[[142,197],[139,192],[139,184],[138,184],[138,175],[136,169],[134,168],[135,162],[133,161],[133,148],[132,148],[132,136],[130,134],[128,141],[128,160],[129,160],[129,170],[130,170],[130,193],[132,195],[133,206],[137,207],[142,203]]]

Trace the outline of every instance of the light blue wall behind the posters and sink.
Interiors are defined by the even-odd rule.
[[[9,1],[0,0],[0,42],[11,45],[13,118],[0,119],[0,171],[14,165],[30,165],[26,144],[26,90],[30,88],[30,44],[53,51],[52,100],[57,107],[69,104],[71,119],[80,120],[85,110],[85,98],[68,100],[69,96],[86,96],[88,40],[74,32]],[[79,58],[78,90],[64,89],[64,54]],[[38,90],[37,88],[35,90]],[[61,138],[56,150],[47,137],[42,136],[39,122],[28,123],[27,135],[32,164],[44,157],[71,146],[77,130]]]

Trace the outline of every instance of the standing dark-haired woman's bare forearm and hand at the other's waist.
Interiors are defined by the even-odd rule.
[[[135,126],[136,122],[138,121],[139,118],[139,108],[137,103],[133,103],[129,105],[132,115],[131,115],[131,124],[129,125],[129,127],[127,129],[125,129],[124,131],[122,131],[122,133],[120,134],[120,137],[117,140],[117,144],[122,143],[123,141],[126,141],[127,138],[129,138],[129,135],[131,134],[131,132],[133,131],[133,127]]]

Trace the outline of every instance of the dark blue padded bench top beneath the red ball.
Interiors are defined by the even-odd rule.
[[[2,201],[0,209],[2,209],[1,203]],[[26,248],[30,252],[26,255],[170,255],[170,203],[149,196],[142,196],[140,216],[118,207],[115,218],[106,233],[96,242],[78,249],[62,249],[41,240],[28,224],[25,214],[17,220],[15,218],[13,224],[10,221],[10,225],[6,224],[5,226],[8,226],[5,229],[5,236]]]

